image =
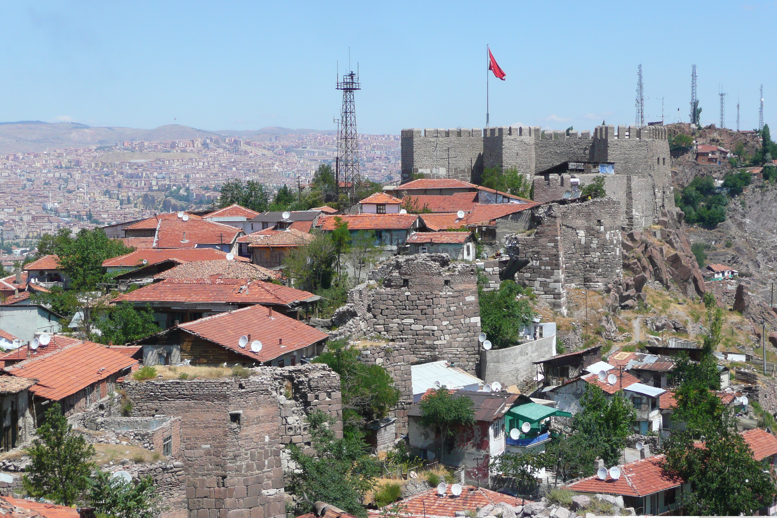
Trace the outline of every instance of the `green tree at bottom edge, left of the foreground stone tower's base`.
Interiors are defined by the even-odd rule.
[[[87,502],[97,513],[108,518],[155,518],[164,510],[162,497],[150,475],[135,485],[123,478],[112,478],[106,471],[96,470],[89,483]]]

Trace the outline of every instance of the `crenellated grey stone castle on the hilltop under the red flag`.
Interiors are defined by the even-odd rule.
[[[455,157],[455,158],[449,158]],[[608,196],[621,201],[622,225],[646,228],[661,210],[674,209],[671,158],[664,127],[598,126],[590,132],[540,127],[492,127],[486,130],[402,130],[402,181],[422,173],[477,183],[483,168],[515,167],[533,177],[535,201],[559,200],[570,189],[569,175],[546,173],[563,162],[613,162],[605,175]],[[450,166],[448,166],[450,164]],[[590,183],[594,174],[576,175]]]

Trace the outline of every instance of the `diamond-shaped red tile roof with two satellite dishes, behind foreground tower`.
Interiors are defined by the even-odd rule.
[[[176,327],[261,362],[329,338],[326,332],[263,306],[228,311]],[[251,335],[252,342],[262,342],[262,350],[254,353],[250,343],[245,349],[240,347],[238,342],[242,335]]]

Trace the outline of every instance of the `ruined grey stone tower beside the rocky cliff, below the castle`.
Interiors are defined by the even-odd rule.
[[[535,210],[533,235],[507,237],[510,258],[525,263],[517,281],[531,287],[552,308],[566,311],[566,286],[603,289],[623,274],[620,203],[613,198]]]

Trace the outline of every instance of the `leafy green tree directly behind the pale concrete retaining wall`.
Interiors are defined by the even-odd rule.
[[[513,345],[521,328],[534,318],[528,297],[517,300],[522,293],[512,280],[503,280],[493,291],[483,290],[483,283],[479,283],[480,327],[497,349]]]

